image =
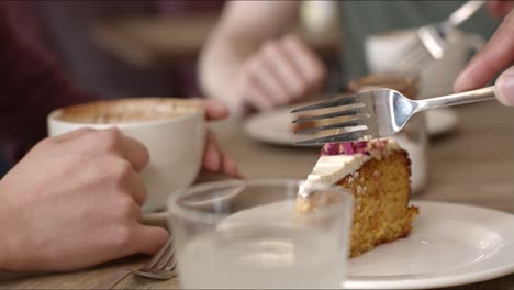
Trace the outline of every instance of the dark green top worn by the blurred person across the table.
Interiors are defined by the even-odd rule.
[[[347,79],[368,74],[364,42],[367,35],[386,31],[405,30],[444,21],[467,1],[340,1],[339,18],[345,45],[343,64]],[[489,40],[500,20],[491,18],[485,9],[477,11],[461,29]]]

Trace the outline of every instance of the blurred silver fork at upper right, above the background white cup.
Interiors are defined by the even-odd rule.
[[[468,1],[445,21],[420,27],[416,38],[402,49],[394,67],[402,71],[417,71],[433,60],[440,59],[447,48],[448,33],[474,14],[485,1]]]

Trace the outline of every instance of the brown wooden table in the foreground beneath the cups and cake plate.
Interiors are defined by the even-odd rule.
[[[417,199],[477,204],[514,213],[514,109],[495,102],[456,109],[458,129],[432,141],[429,182]],[[280,147],[245,136],[237,122],[215,124],[222,145],[248,177],[304,178],[316,149]],[[458,231],[456,228],[456,231]],[[514,257],[513,257],[514,259]],[[0,280],[1,289],[87,289],[121,269],[136,268],[146,257],[130,257],[71,274]],[[130,277],[116,288],[177,289],[177,280]],[[514,275],[457,289],[514,289]]]

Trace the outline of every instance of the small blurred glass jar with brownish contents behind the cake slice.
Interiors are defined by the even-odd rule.
[[[350,81],[350,92],[369,89],[389,88],[401,92],[410,99],[418,99],[418,78],[403,72],[383,72],[369,75]],[[417,113],[409,120],[399,133],[390,136],[409,153],[411,159],[411,188],[413,193],[420,193],[427,180],[427,147],[428,137],[425,115]]]

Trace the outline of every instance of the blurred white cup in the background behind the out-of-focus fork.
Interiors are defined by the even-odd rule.
[[[394,71],[402,52],[416,38],[415,30],[400,30],[366,38],[365,54],[371,74]],[[452,83],[469,60],[480,51],[485,41],[477,34],[455,30],[448,34],[448,48],[442,59],[431,63],[420,71],[421,98],[450,93]]]

